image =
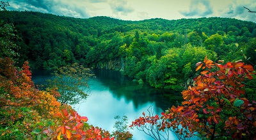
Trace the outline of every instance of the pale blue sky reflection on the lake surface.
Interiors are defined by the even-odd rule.
[[[156,113],[161,113],[162,109],[156,107],[155,102],[145,102],[145,104],[136,104],[132,100],[127,100],[125,96],[116,96],[113,90],[104,86],[98,79],[92,79],[89,83],[91,87],[91,95],[86,102],[74,105],[74,108],[82,116],[89,118],[88,123],[99,126],[109,132],[113,132],[115,124],[114,117],[127,116],[128,125],[136,118],[142,115],[143,111],[147,111],[149,107],[154,107]],[[133,139],[152,139],[139,130],[131,130],[134,135]]]

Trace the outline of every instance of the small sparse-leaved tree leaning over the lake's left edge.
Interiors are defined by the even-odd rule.
[[[62,104],[77,104],[88,97],[90,92],[88,79],[93,74],[90,68],[74,63],[54,71],[54,79],[49,80],[49,88],[58,88]]]

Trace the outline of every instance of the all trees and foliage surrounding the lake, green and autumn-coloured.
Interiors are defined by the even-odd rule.
[[[132,139],[122,123],[126,118],[115,123],[113,134],[88,124],[70,106],[80,98],[61,97],[83,91],[68,93],[61,85],[39,90],[30,68],[62,70],[78,79],[67,79],[77,86],[86,84],[80,75],[91,75],[87,68],[106,68],[138,84],[182,91],[179,105],[161,115],[143,112],[129,126],[154,139],[170,131],[179,139],[255,139],[256,23],[220,17],[76,19],[5,6],[1,2],[1,139]],[[52,83],[67,78],[56,77]]]

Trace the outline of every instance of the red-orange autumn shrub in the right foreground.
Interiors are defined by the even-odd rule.
[[[220,63],[205,57],[196,64],[196,71],[202,71],[194,79],[195,86],[182,91],[181,105],[173,105],[161,117],[143,113],[131,127],[150,124],[158,131],[175,132],[179,139],[256,139],[256,102],[246,98],[244,89],[244,80],[255,74],[253,66],[241,61]]]

